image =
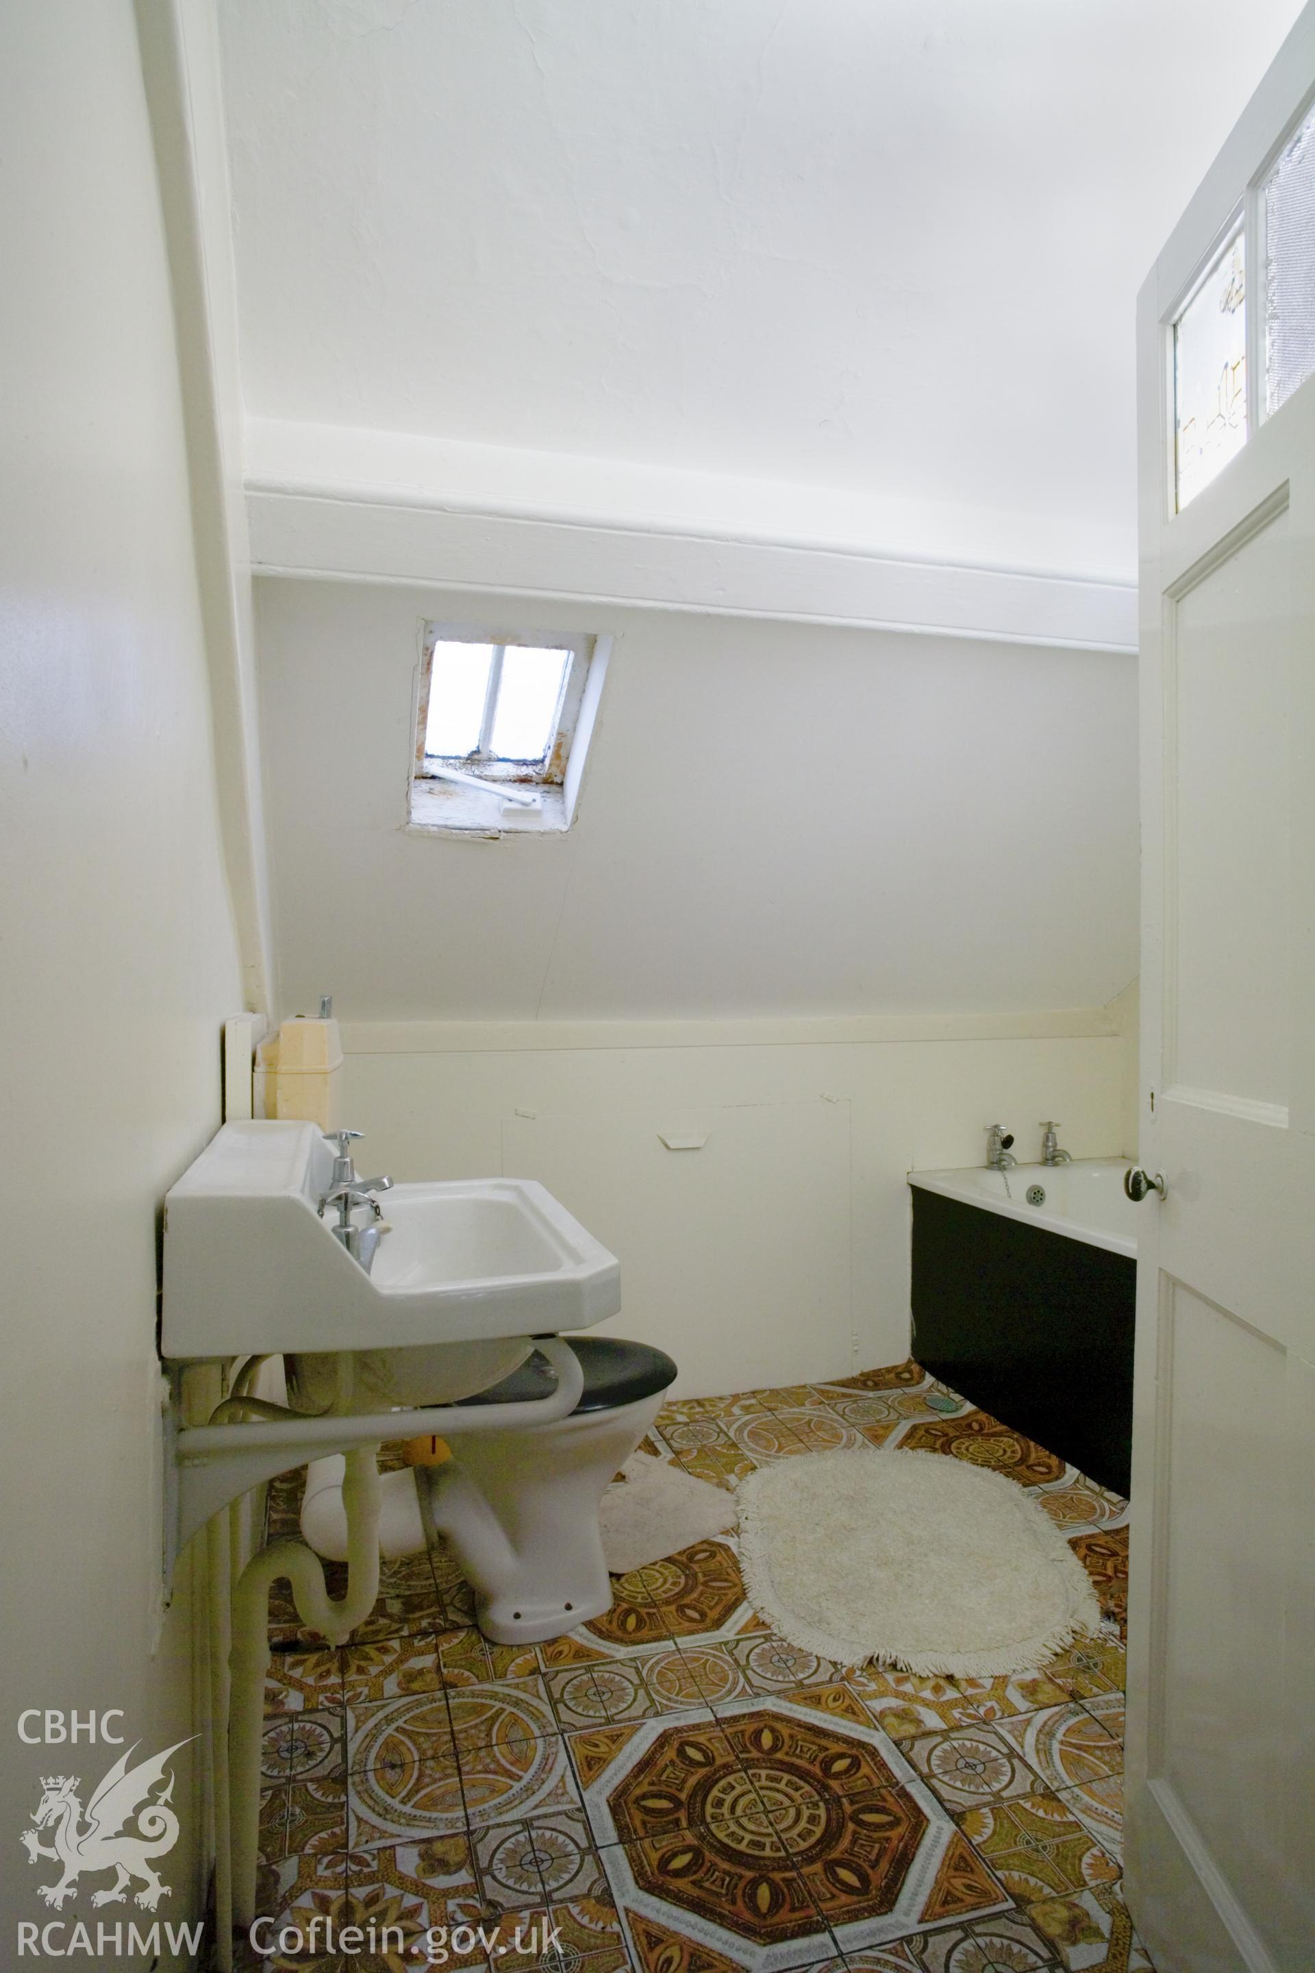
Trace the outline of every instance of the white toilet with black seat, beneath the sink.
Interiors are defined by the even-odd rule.
[[[475,1614],[495,1644],[538,1644],[601,1616],[611,1604],[597,1505],[653,1425],[676,1365],[649,1344],[572,1336],[584,1371],[580,1403],[556,1425],[461,1432],[442,1466],[382,1476],[379,1547],[414,1555],[442,1533],[475,1590]],[[548,1397],[552,1373],[530,1355],[463,1405]],[[302,1535],[317,1555],[347,1555],[341,1454],[306,1474]]]

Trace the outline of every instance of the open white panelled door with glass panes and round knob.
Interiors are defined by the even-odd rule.
[[[1315,6],[1140,298],[1128,1902],[1315,1967]],[[1309,361],[1303,355],[1309,351]]]

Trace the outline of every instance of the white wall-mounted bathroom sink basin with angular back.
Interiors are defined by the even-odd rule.
[[[513,1369],[526,1338],[621,1306],[615,1257],[528,1178],[392,1186],[367,1275],[317,1213],[331,1170],[315,1125],[219,1131],[166,1200],[164,1355],[282,1352],[319,1409],[329,1359],[351,1350],[369,1387],[353,1409],[442,1403]]]

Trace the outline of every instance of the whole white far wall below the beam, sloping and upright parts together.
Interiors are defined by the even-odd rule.
[[[526,600],[613,635],[576,823],[442,840],[418,631],[507,598],[256,592],[282,996],[335,994],[345,1121],[394,1178],[540,1178],[682,1389],[903,1357],[905,1172],[986,1125],[1122,1148],[1130,657]]]

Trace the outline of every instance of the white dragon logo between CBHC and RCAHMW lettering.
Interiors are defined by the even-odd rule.
[[[152,1788],[166,1780],[170,1756],[177,1754],[179,1746],[187,1746],[187,1740],[175,1740],[173,1746],[166,1746],[164,1754],[152,1754],[150,1760],[128,1768],[140,1744],[134,1740],[104,1776],[87,1803],[87,1821],[83,1821],[83,1803],[77,1797],[77,1790],[83,1786],[79,1776],[51,1774],[41,1780],[41,1799],[32,1817],[32,1829],[24,1829],[18,1841],[28,1851],[28,1863],[49,1857],[51,1863],[63,1864],[63,1876],[57,1884],[37,1886],[39,1896],[55,1910],[63,1906],[65,1898],[77,1896],[77,1880],[83,1870],[89,1874],[97,1870],[116,1872],[108,1890],[93,1892],[93,1904],[124,1904],[128,1886],[134,1882],[142,1884],[136,1902],[148,1912],[154,1912],[160,1900],[170,1896],[170,1886],[160,1882],[152,1861],[168,1855],[177,1843],[177,1815],[170,1807],[173,1776],[168,1776],[164,1791],[154,1799]],[[136,1831],[130,1831],[126,1825],[134,1819]],[[39,1843],[37,1829],[51,1829],[53,1845]]]

